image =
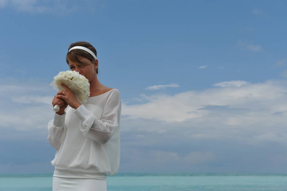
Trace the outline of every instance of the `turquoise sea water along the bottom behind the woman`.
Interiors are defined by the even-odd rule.
[[[0,174],[2,191],[52,191],[53,174]],[[287,174],[118,173],[109,191],[287,191]]]

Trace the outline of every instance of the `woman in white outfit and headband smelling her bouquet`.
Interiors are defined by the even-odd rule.
[[[60,106],[48,124],[48,140],[56,149],[53,191],[104,191],[106,174],[120,165],[120,92],[97,78],[96,49],[88,42],[68,48],[67,64],[90,83],[90,97],[80,104],[71,90],[59,91],[52,101]]]

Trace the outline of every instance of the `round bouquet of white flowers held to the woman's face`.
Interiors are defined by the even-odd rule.
[[[51,82],[54,90],[65,90],[60,84],[63,83],[68,86],[76,96],[77,100],[81,104],[87,103],[87,98],[90,96],[90,83],[88,79],[76,71],[67,70],[60,72],[54,77],[54,81]],[[55,105],[53,111],[58,112],[59,105]]]

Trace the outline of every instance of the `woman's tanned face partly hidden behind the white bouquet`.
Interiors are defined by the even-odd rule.
[[[84,61],[85,63],[91,63],[91,61],[88,58],[84,58],[84,57],[78,57],[80,61]],[[96,69],[98,62],[97,60],[95,61],[95,63],[91,63],[88,65],[82,65],[79,66],[77,65],[76,62],[72,62],[69,60],[69,67],[71,69],[71,71],[76,71],[79,72],[81,75],[85,76],[89,82],[91,82],[91,80],[94,78],[95,74],[96,74]]]

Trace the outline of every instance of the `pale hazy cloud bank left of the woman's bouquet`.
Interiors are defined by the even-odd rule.
[[[17,131],[33,131],[44,128],[53,118],[51,92],[57,93],[49,84],[37,81],[0,80],[0,128]],[[3,84],[9,83],[9,84]],[[13,85],[12,85],[13,84]]]

